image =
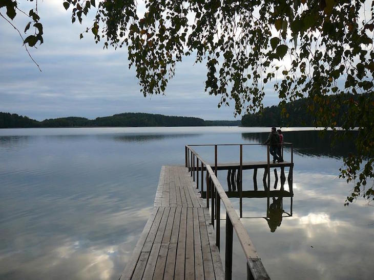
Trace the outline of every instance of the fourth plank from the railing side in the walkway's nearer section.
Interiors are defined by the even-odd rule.
[[[193,208],[187,208],[187,230],[185,241],[185,278],[195,278]]]

